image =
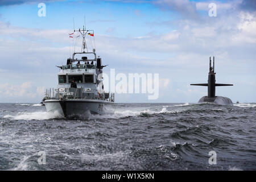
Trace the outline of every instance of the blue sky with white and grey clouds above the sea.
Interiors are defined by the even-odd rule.
[[[46,16],[38,16],[39,3]],[[56,88],[55,65],[70,56],[68,34],[84,19],[105,73],[159,74],[158,99],[115,94],[116,102],[197,102],[207,87],[190,84],[207,82],[210,56],[216,82],[234,84],[216,95],[256,102],[256,1],[246,0],[0,0],[0,102],[40,102]]]

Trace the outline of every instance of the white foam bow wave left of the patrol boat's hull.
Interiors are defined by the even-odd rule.
[[[55,111],[52,112],[34,112],[34,113],[18,113],[18,115],[5,115],[3,118],[11,118],[15,120],[24,119],[24,120],[43,120],[43,119],[52,119],[52,118],[63,118],[59,112]]]

